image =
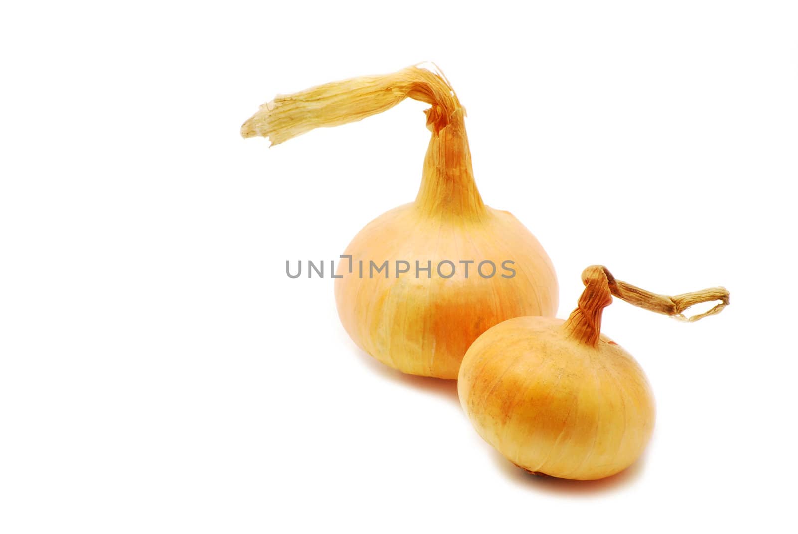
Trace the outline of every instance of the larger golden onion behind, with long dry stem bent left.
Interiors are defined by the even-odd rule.
[[[553,316],[557,282],[537,239],[510,213],[483,204],[465,110],[443,74],[414,66],[280,95],[241,133],[279,144],[359,121],[406,97],[432,105],[425,111],[432,139],[421,190],[414,203],[377,217],[354,237],[344,253],[350,258],[338,264],[335,299],[362,350],[404,373],[453,379],[468,346],[490,326],[519,315]],[[371,262],[386,261],[388,269],[374,275]]]

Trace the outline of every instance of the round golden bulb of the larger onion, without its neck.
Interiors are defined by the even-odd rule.
[[[554,268],[537,239],[508,212],[484,207],[479,221],[425,216],[417,204],[395,208],[369,223],[346,248],[338,264],[335,300],[338,315],[354,342],[368,354],[408,374],[457,378],[468,346],[490,326],[519,315],[553,315],[557,308]],[[369,279],[369,261],[389,260],[389,277]],[[411,271],[394,275],[395,260],[411,263]],[[473,260],[468,266],[462,260]],[[415,261],[432,264],[416,277]],[[455,275],[441,279],[437,265],[450,260]],[[482,278],[478,263],[491,260],[496,274]],[[502,269],[515,262],[512,278]],[[364,265],[358,276],[359,262]],[[448,275],[451,267],[441,266]],[[484,274],[490,272],[488,264]]]

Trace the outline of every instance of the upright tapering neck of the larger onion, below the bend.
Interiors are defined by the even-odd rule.
[[[428,125],[433,136],[424,160],[416,208],[427,216],[479,220],[484,215],[485,205],[474,182],[464,110],[460,107],[455,109],[447,117],[448,124],[437,131],[434,117],[431,117],[433,111],[434,108],[428,112]]]

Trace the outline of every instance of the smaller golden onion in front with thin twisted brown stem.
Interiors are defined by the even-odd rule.
[[[654,397],[631,354],[601,334],[612,296],[651,311],[695,321],[729,303],[722,287],[675,297],[656,295],[588,267],[585,290],[567,320],[512,318],[468,349],[457,382],[460,404],[476,431],[531,473],[579,480],[626,469],[654,430]],[[685,318],[695,303],[721,300]]]

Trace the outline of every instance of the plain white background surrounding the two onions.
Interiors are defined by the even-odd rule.
[[[796,527],[795,2],[15,2],[0,16],[0,531]],[[520,10],[519,10],[520,9]],[[407,101],[267,148],[275,93],[435,61],[477,184],[546,247],[663,293],[604,331],[658,403],[645,457],[538,479],[455,382],[347,337],[334,259],[415,198]]]

